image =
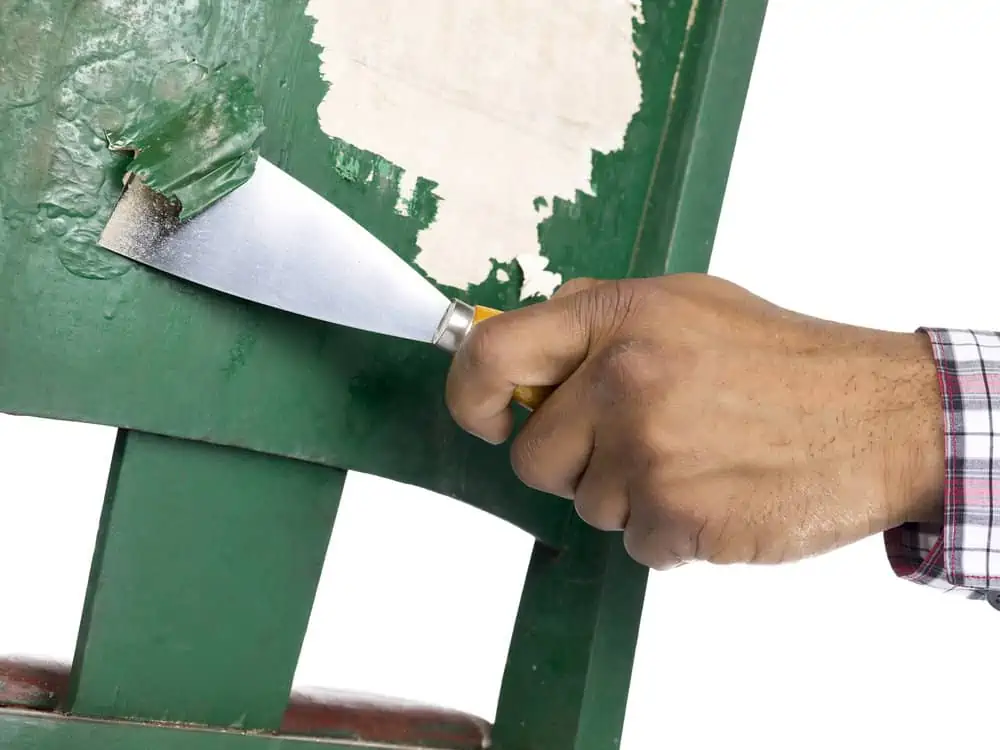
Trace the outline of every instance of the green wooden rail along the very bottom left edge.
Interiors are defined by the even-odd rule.
[[[10,750],[386,750],[389,745],[0,709],[0,747]]]

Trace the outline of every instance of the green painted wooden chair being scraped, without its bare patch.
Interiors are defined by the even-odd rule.
[[[121,174],[102,128],[158,67],[193,56],[239,59],[264,102],[262,153],[413,258],[421,218],[394,210],[401,170],[319,130],[304,5],[0,7],[0,410],[120,428],[75,657],[0,663],[0,745],[617,747],[646,572],[452,424],[446,357],[195,289],[94,244]],[[594,155],[596,197],[557,200],[540,226],[564,277],[707,269],[764,9],[643,3],[643,101],[625,146]],[[433,202],[432,187],[418,196]],[[516,305],[505,270],[511,283],[460,296]],[[290,695],[350,469],[537,540],[492,727]]]

